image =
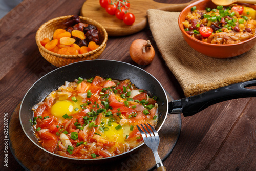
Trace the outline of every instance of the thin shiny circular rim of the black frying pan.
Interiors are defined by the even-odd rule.
[[[49,74],[51,74],[52,72],[56,72],[56,71],[59,70],[59,69],[65,68],[65,67],[70,66],[70,65],[76,65],[77,63],[81,63],[81,62],[91,62],[91,61],[110,61],[110,62],[116,62],[116,63],[123,63],[124,65],[128,65],[128,66],[131,66],[131,67],[136,67],[137,69],[142,70],[143,72],[145,72],[146,74],[150,75],[152,78],[154,78],[154,79],[158,82],[159,86],[162,88],[162,90],[163,90],[163,92],[164,92],[165,100],[166,100],[166,102],[168,103],[167,94],[166,94],[165,89],[163,88],[162,84],[161,84],[153,75],[151,75],[151,74],[148,73],[147,71],[145,71],[145,70],[143,70],[143,69],[141,69],[141,68],[139,68],[139,67],[137,67],[137,66],[134,66],[134,65],[132,65],[132,64],[130,64],[130,63],[126,63],[126,62],[122,62],[122,61],[117,61],[117,60],[95,59],[95,60],[86,60],[86,61],[74,62],[74,63],[70,63],[70,64],[68,64],[68,65],[66,65],[66,66],[59,67],[59,68],[57,68],[57,69],[55,69],[55,70],[53,70],[53,71],[47,73],[46,75],[42,76],[41,78],[39,78],[39,79],[29,88],[29,90],[28,90],[28,91],[26,92],[26,94],[24,95],[24,97],[23,97],[23,99],[22,99],[22,102],[20,103],[20,108],[19,108],[19,122],[20,122],[20,125],[22,126],[22,129],[23,129],[23,132],[25,133],[25,135],[26,135],[26,136],[29,138],[29,140],[30,140],[31,142],[33,142],[37,147],[39,147],[40,149],[44,150],[45,152],[47,152],[47,153],[49,153],[49,154],[51,154],[51,155],[54,155],[54,156],[56,156],[56,157],[63,158],[63,159],[68,159],[68,160],[74,160],[74,161],[101,161],[101,160],[106,160],[106,159],[118,158],[118,157],[120,157],[120,156],[124,156],[124,155],[127,154],[127,153],[134,153],[134,151],[136,151],[139,147],[141,147],[142,145],[145,144],[144,142],[142,142],[141,144],[137,145],[136,147],[134,147],[133,149],[131,149],[131,150],[127,151],[127,152],[124,152],[124,153],[121,153],[121,154],[118,154],[118,155],[115,155],[115,156],[111,156],[111,157],[108,157],[108,158],[99,158],[99,159],[77,159],[77,158],[70,158],[70,157],[65,157],[65,156],[57,155],[57,154],[54,154],[54,153],[52,153],[52,152],[47,151],[45,148],[41,147],[41,146],[38,145],[36,142],[34,142],[34,141],[30,138],[30,136],[27,134],[27,132],[25,131],[24,126],[23,126],[23,124],[22,124],[22,119],[21,119],[22,106],[23,106],[23,102],[24,102],[26,96],[28,95],[28,93],[30,92],[30,90],[33,89],[33,87],[35,86],[35,84],[36,84],[38,81],[40,81],[40,80],[44,80],[44,78],[47,77]],[[165,120],[166,120],[166,118],[167,118],[169,105],[167,104],[166,106],[167,106],[167,108],[166,108],[165,117],[163,118],[162,124],[161,124],[161,125],[159,126],[159,128],[157,129],[157,132],[159,132],[159,130],[161,129],[161,127],[163,126],[163,124],[164,124],[164,122],[165,122]]]

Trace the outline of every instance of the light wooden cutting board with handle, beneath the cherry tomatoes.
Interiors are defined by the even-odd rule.
[[[148,9],[182,11],[187,5],[195,1],[196,0],[193,0],[184,4],[166,4],[153,0],[129,0],[129,12],[135,15],[135,22],[131,26],[124,24],[123,21],[116,18],[115,15],[106,13],[105,9],[100,6],[98,0],[86,0],[81,8],[80,15],[99,22],[106,29],[109,36],[124,36],[139,32],[148,25],[146,15]]]

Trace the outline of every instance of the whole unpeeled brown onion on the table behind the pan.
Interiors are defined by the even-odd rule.
[[[130,46],[130,56],[137,64],[148,65],[155,57],[155,50],[149,40],[137,39]]]

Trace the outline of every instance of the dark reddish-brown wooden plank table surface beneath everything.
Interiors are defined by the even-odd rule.
[[[185,3],[187,0],[158,0]],[[9,119],[32,84],[55,69],[39,53],[35,34],[46,21],[80,13],[84,0],[24,0],[0,20],[0,169],[23,170],[5,146],[5,116]],[[143,7],[142,7],[143,8]],[[134,63],[129,47],[135,39],[150,39],[156,56],[144,70],[155,76],[174,99],[183,91],[166,67],[152,33],[146,29],[130,36],[109,37],[98,59]],[[163,162],[167,170],[256,170],[256,98],[225,101],[191,117],[182,116],[182,129],[176,146]],[[17,141],[18,141],[17,137]],[[29,140],[28,140],[29,141]],[[26,142],[20,142],[21,145]],[[8,167],[4,157],[8,155]],[[152,155],[153,154],[148,154]],[[55,167],[57,168],[57,167]],[[42,170],[44,170],[42,168]]]

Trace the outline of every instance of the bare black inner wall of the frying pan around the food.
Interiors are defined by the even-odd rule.
[[[63,85],[65,81],[73,82],[78,77],[88,79],[96,75],[117,80],[130,79],[136,87],[147,90],[151,96],[157,96],[160,117],[156,130],[161,128],[167,116],[168,101],[164,89],[156,78],[129,63],[113,60],[88,60],[60,67],[40,78],[29,89],[20,106],[19,116],[23,130],[29,139],[39,145],[29,122],[29,119],[33,118],[31,108],[35,104],[46,98],[53,90]]]

